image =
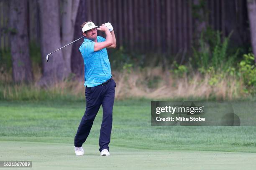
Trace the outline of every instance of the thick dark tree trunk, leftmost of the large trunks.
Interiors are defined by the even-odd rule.
[[[14,82],[33,80],[28,45],[27,0],[10,1],[10,44]]]

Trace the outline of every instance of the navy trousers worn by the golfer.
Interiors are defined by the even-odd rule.
[[[110,143],[110,135],[112,129],[112,113],[115,99],[115,81],[110,80],[106,85],[98,85],[95,87],[85,87],[86,110],[77,129],[77,134],[74,138],[74,145],[81,147],[87,139],[92,128],[93,121],[97,112],[102,105],[103,117],[100,128],[100,152],[103,149],[108,149]]]

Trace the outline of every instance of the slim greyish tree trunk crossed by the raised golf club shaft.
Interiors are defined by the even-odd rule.
[[[77,17],[77,10],[80,0],[62,0],[63,12],[61,15],[61,44],[67,45],[74,39],[74,25]],[[83,16],[79,16],[83,18]],[[71,73],[72,45],[62,49],[67,71]]]

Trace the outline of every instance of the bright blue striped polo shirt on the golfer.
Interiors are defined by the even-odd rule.
[[[106,39],[97,36],[97,42]],[[84,86],[94,87],[110,79],[111,68],[106,48],[94,51],[95,42],[84,38],[79,50],[84,59]]]

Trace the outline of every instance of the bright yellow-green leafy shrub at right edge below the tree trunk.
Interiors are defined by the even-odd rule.
[[[250,87],[246,92],[256,92],[256,68],[253,53],[243,55],[243,60],[239,63],[243,83]]]

